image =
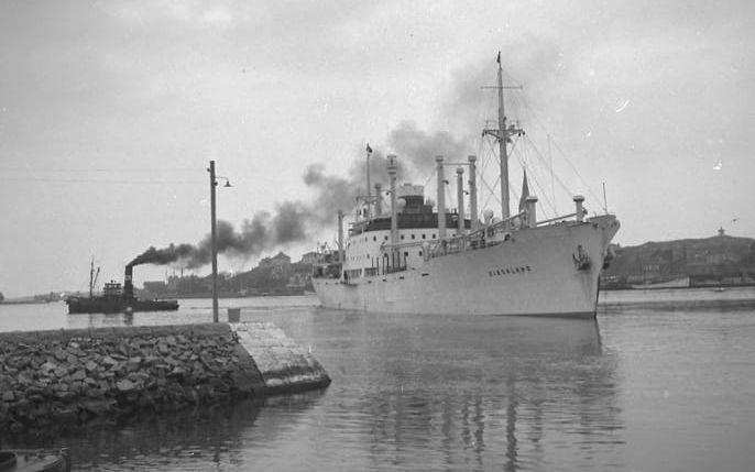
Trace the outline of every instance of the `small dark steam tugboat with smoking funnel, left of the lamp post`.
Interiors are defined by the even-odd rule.
[[[99,274],[99,268],[97,270]],[[143,300],[133,294],[133,266],[125,266],[123,287],[116,281],[105,284],[102,295],[94,295],[96,275],[94,263],[89,271],[89,297],[68,297],[68,314],[119,314],[134,311],[175,311],[178,309],[177,300]]]

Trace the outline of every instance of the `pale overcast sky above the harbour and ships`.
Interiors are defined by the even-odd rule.
[[[591,210],[605,182],[619,243],[755,237],[751,4],[2,1],[0,292],[85,289],[91,256],[122,279],[150,245],[200,241],[209,160],[233,184],[218,216],[241,226],[314,201],[313,164],[346,177],[365,142],[404,150],[401,130],[452,136],[449,158],[479,153],[499,50],[523,86],[507,114],[543,154],[552,136],[559,179]],[[535,175],[545,207],[560,184]],[[309,227],[280,249],[298,259],[333,234]]]

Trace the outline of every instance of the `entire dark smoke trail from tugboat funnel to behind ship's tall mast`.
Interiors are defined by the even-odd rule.
[[[544,77],[558,77],[566,72],[561,69],[562,55],[558,46],[547,41],[528,41],[527,45],[512,48],[506,61],[516,64],[523,70],[523,79],[529,86],[547,89]],[[475,151],[480,133],[480,119],[495,116],[496,100],[492,96],[480,94],[480,86],[493,85],[497,64],[491,53],[490,62],[461,69],[453,80],[453,89],[440,105],[442,122],[440,127],[451,128],[448,131],[428,132],[415,123],[404,121],[392,130],[384,145],[372,147],[370,157],[370,177],[374,195],[374,184],[381,183],[387,190],[389,153],[397,156],[398,183],[412,182],[423,184],[431,176],[435,157],[441,155],[446,162],[466,162],[469,154]],[[506,85],[518,85],[518,81],[504,75]],[[492,92],[491,92],[492,94]],[[483,103],[492,108],[480,117],[477,111]],[[251,220],[242,222],[239,229],[227,221],[218,222],[218,252],[230,257],[249,259],[281,245],[311,242],[325,230],[333,231],[336,212],[347,215],[357,205],[357,197],[366,195],[366,158],[364,144],[355,147],[353,164],[343,174],[328,174],[320,163],[309,165],[304,175],[304,184],[313,191],[310,200],[287,200],[278,204],[274,211],[261,211]],[[385,194],[383,194],[385,197]],[[383,205],[383,208],[386,208]],[[131,264],[180,264],[195,268],[210,262],[210,238],[205,237],[197,244],[171,244],[164,249],[150,248]]]

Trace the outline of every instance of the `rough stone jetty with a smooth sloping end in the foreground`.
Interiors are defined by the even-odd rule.
[[[258,343],[250,353],[239,342],[250,336],[270,339],[267,348]],[[288,370],[269,361],[259,367],[253,355],[273,351],[286,353]],[[176,410],[329,383],[311,355],[265,323],[0,333],[0,429]]]

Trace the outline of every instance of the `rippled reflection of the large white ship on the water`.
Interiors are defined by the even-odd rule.
[[[403,328],[372,353],[387,385],[360,405],[370,411],[374,463],[385,460],[383,444],[434,450],[431,468],[506,471],[621,447],[616,361],[595,320],[448,318]]]

